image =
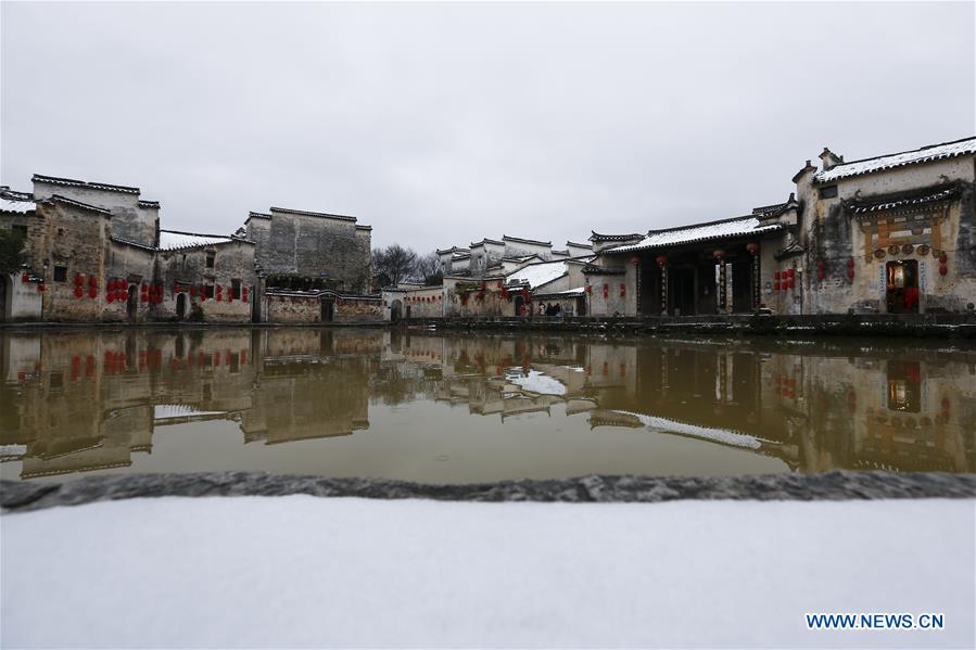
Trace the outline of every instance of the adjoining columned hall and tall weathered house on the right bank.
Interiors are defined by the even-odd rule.
[[[825,149],[783,203],[600,234],[584,269],[604,316],[933,314],[976,295],[976,138],[845,163]]]

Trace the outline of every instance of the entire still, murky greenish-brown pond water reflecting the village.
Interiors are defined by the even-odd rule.
[[[380,329],[0,333],[3,479],[976,470],[976,352]]]

